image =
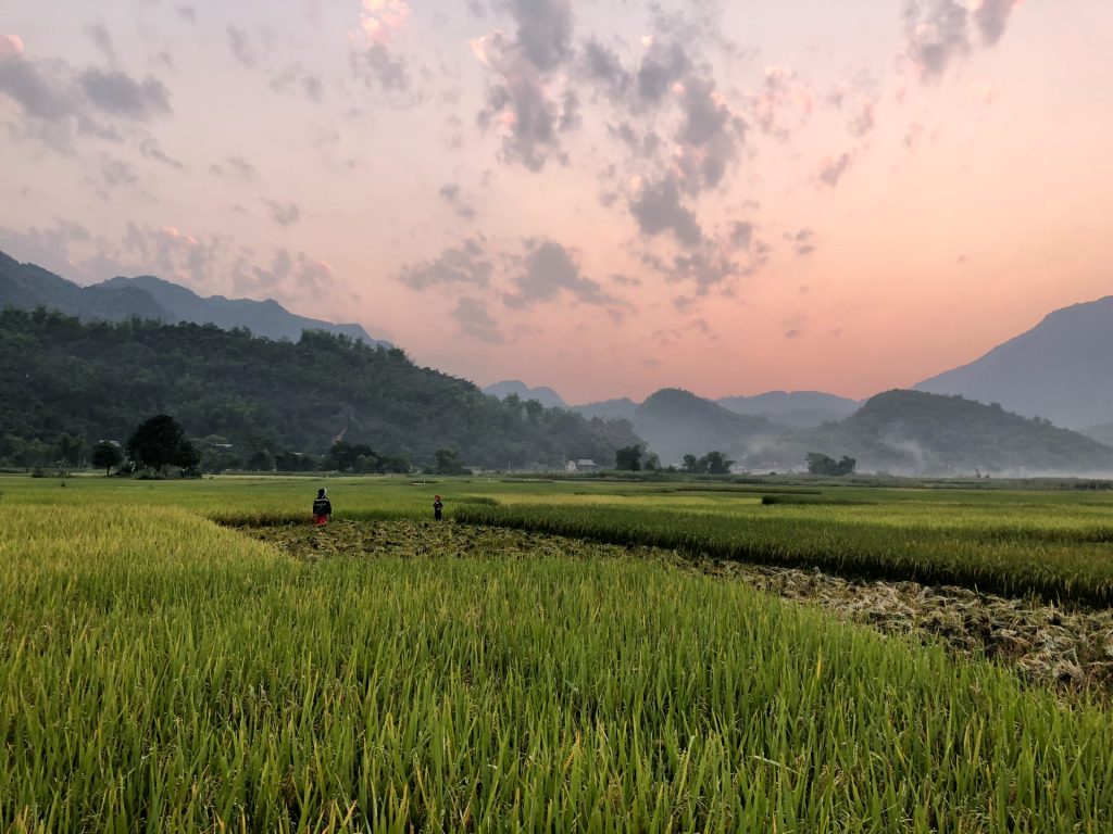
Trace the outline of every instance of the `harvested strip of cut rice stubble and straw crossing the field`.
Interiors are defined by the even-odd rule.
[[[1033,599],[1007,599],[953,586],[844,579],[816,569],[693,560],[674,552],[585,543],[546,534],[453,523],[337,520],[324,529],[264,527],[245,533],[289,555],[402,558],[516,557],[538,554],[638,557],[745,582],[785,599],[817,605],[833,616],[883,634],[942,642],[962,656],[984,656],[1031,682],[1064,694],[1113,702],[1113,608],[1064,609]]]

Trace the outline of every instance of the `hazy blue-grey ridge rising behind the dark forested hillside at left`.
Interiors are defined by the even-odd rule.
[[[214,324],[224,329],[246,327],[256,336],[296,341],[303,330],[325,330],[376,345],[359,325],[334,325],[296,316],[274,300],[253,301],[224,296],[203,298],[185,287],[152,276],[112,278],[81,287],[33,264],[19,264],[0,252],[0,309],[36,307],[77,316],[83,321],[142,319],[177,324]],[[388,342],[383,342],[391,347]]]

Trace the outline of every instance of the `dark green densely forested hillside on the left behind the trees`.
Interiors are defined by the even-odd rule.
[[[60,439],[86,449],[126,443],[159,413],[203,449],[242,463],[245,454],[322,455],[343,440],[415,464],[453,449],[470,466],[560,466],[613,461],[615,448],[639,441],[629,424],[500,401],[402,350],[345,336],[272,341],[215,326],[0,312],[0,463],[37,465]]]

